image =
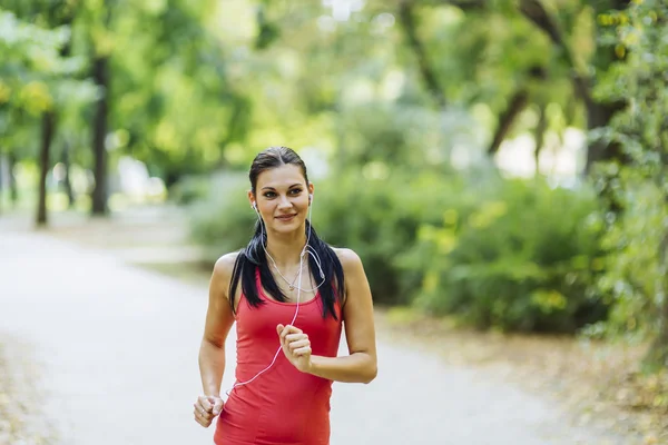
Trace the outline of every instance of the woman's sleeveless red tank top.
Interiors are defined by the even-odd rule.
[[[276,325],[292,322],[296,303],[268,298],[256,274],[265,303],[253,307],[242,295],[236,313],[236,380],[247,382],[266,368],[281,345]],[[323,318],[320,293],[299,303],[294,326],[308,335],[313,355],[335,357],[341,339],[341,308],[335,320]],[[247,385],[230,393],[218,417],[216,445],[327,445],[332,380],[305,374],[278,353],[274,365]]]

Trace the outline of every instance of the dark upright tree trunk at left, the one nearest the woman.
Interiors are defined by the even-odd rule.
[[[109,59],[96,57],[92,63],[92,78],[102,90],[95,109],[92,123],[92,152],[95,158],[95,188],[92,190],[92,215],[107,215],[107,115],[109,108]]]

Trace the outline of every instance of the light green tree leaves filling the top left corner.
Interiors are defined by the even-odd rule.
[[[72,116],[99,93],[81,78],[85,59],[65,55],[71,28],[49,22],[49,16],[62,11],[56,11],[53,3],[42,6],[14,4],[31,20],[0,9],[0,152],[12,151],[17,159],[35,156],[40,115],[58,110],[59,127],[71,128]],[[31,11],[40,13],[32,17]],[[62,135],[60,139],[73,138]]]

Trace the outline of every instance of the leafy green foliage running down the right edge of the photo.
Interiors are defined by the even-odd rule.
[[[607,324],[591,335],[658,337],[650,350],[655,366],[668,360],[668,6],[632,2],[625,11],[599,18],[605,38],[623,53],[596,90],[599,99],[626,107],[592,138],[611,141],[628,156],[628,165],[599,169],[599,184],[621,209],[608,214],[607,273],[599,285],[611,295]],[[661,352],[662,348],[662,352]]]

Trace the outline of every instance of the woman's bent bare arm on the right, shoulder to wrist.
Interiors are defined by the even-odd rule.
[[[336,249],[344,273],[346,303],[343,323],[350,355],[311,356],[308,373],[336,382],[370,383],[377,374],[373,301],[360,257],[350,249]]]

